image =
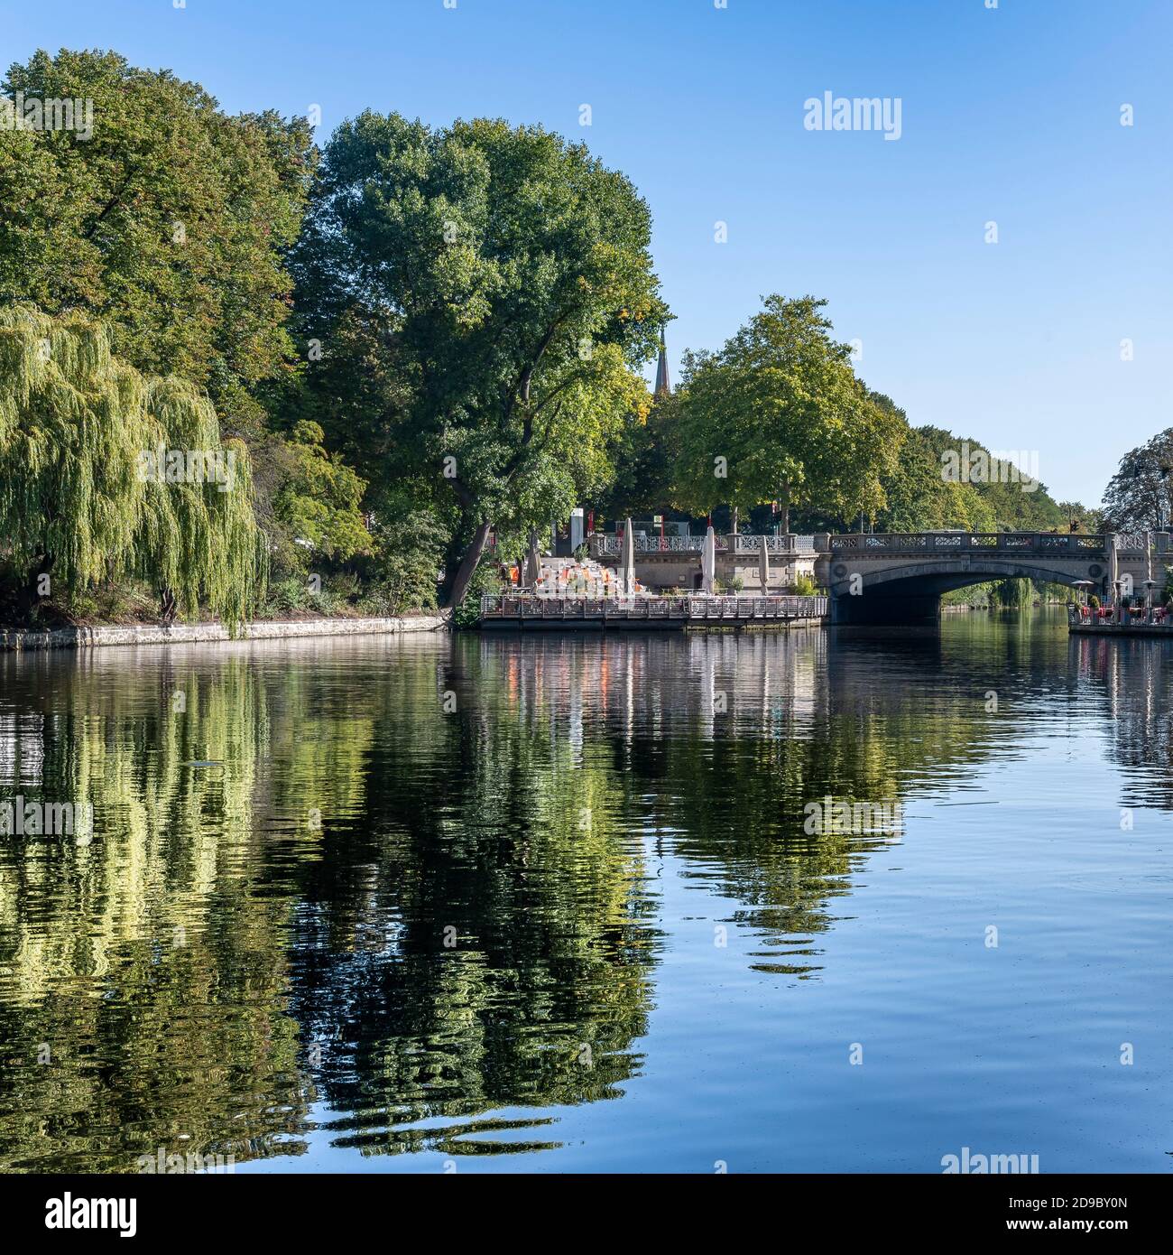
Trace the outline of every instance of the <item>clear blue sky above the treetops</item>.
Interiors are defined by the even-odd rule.
[[[368,107],[585,139],[651,205],[674,364],[824,296],[911,422],[1038,451],[1060,498],[1173,424],[1169,0],[178,3],[0,0],[0,61],[113,48],[233,112],[316,104],[319,141]],[[898,98],[900,139],[807,129],[825,92]]]

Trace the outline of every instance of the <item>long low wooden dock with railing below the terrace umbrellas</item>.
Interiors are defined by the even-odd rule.
[[[684,631],[689,628],[800,628],[827,621],[827,597],[480,599],[480,626],[523,631]]]

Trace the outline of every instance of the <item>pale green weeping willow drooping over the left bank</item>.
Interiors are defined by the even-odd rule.
[[[267,570],[247,451],[211,402],[118,361],[100,323],[25,305],[0,310],[0,550],[40,594],[137,579],[166,617],[204,601],[230,626]]]

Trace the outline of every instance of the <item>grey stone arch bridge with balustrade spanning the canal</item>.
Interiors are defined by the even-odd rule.
[[[814,579],[833,624],[935,622],[941,594],[987,580],[1030,577],[1110,597],[1115,581],[1144,591],[1173,563],[1169,533],[915,532],[814,537]]]

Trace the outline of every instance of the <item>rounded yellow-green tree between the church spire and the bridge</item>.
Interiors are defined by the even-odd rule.
[[[676,503],[696,513],[780,501],[848,520],[884,503],[907,430],[831,338],[825,301],[767,297],[718,353],[689,353],[674,423]]]

